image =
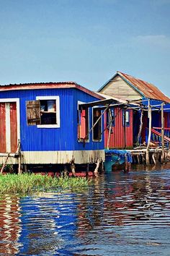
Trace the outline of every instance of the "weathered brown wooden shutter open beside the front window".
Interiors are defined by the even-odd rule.
[[[40,124],[40,101],[27,101],[27,124]]]

